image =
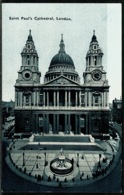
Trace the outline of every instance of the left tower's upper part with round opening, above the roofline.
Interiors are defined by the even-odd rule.
[[[41,73],[38,67],[38,54],[35,49],[34,41],[29,30],[29,35],[26,44],[21,52],[22,64],[18,72],[16,83],[40,83]]]

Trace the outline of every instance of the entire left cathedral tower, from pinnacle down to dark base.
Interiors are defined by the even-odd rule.
[[[34,129],[32,115],[39,105],[40,77],[38,54],[29,30],[26,44],[21,52],[21,67],[15,84],[15,131],[30,132]]]

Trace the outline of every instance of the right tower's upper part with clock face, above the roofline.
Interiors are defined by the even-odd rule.
[[[84,83],[93,85],[107,84],[106,72],[102,65],[103,52],[99,47],[95,31],[90,42],[89,50],[86,54],[86,70],[83,73]]]

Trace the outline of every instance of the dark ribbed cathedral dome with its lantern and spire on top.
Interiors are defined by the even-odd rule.
[[[64,41],[63,41],[63,37],[61,38],[61,42],[60,42],[60,50],[58,52],[58,54],[56,54],[50,63],[50,66],[52,65],[61,65],[61,64],[67,64],[67,65],[72,65],[74,66],[74,62],[72,60],[72,58],[66,54],[65,52],[65,45],[64,45]]]

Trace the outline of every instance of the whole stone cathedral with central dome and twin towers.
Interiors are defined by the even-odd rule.
[[[41,84],[39,57],[29,31],[15,84],[15,132],[108,133],[109,85],[95,32],[86,54],[82,84],[74,61],[65,51],[63,36],[59,47]]]

